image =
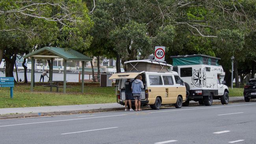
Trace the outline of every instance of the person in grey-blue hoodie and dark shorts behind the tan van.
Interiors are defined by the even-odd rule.
[[[141,75],[132,82],[132,94],[135,100],[135,111],[141,111],[141,89],[144,89]]]

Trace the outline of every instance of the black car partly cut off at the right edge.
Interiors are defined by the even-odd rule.
[[[250,79],[244,87],[243,96],[245,102],[249,102],[250,99],[256,98],[256,79]]]

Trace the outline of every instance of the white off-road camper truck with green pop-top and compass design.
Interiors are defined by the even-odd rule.
[[[214,99],[221,100],[222,104],[228,104],[228,87],[224,81],[218,79],[218,75],[224,75],[223,68],[219,65],[220,58],[207,55],[171,56],[173,59],[173,71],[178,72],[185,82],[189,94],[184,106],[189,105],[190,100],[199,104],[211,105]]]

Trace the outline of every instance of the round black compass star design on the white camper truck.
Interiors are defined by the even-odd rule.
[[[192,82],[197,87],[204,87],[206,85],[206,73],[202,70],[197,70],[192,75]]]

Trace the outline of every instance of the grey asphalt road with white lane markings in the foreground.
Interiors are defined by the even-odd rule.
[[[256,102],[0,120],[0,144],[256,144]]]

